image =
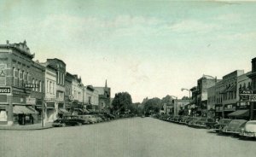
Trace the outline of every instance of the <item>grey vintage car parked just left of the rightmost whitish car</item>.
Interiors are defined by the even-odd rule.
[[[240,134],[241,128],[247,123],[244,119],[233,119],[229,125],[224,126],[222,132],[229,134]]]

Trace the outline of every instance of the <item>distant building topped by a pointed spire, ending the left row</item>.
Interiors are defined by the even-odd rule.
[[[95,87],[99,94],[99,109],[108,111],[112,108],[110,103],[111,89],[108,87],[107,80],[105,87]]]

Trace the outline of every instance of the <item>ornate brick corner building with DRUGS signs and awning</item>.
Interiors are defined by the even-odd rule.
[[[33,123],[34,109],[44,96],[44,68],[34,63],[26,41],[0,44],[0,124],[26,125]],[[39,87],[38,84],[40,83]],[[41,89],[41,90],[40,90]]]

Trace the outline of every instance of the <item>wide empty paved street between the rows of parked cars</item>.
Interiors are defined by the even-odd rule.
[[[256,141],[152,118],[42,131],[0,131],[1,157],[243,157]]]

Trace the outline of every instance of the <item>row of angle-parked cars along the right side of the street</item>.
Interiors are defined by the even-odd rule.
[[[155,118],[173,123],[188,125],[195,128],[211,129],[218,133],[232,134],[241,137],[256,138],[256,120],[245,119],[220,119],[215,121],[205,117],[158,115]]]

